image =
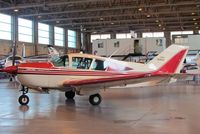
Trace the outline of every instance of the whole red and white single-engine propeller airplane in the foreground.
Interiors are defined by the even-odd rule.
[[[118,61],[89,54],[68,54],[55,62],[21,63],[1,71],[17,74],[22,85],[21,105],[29,103],[28,89],[58,89],[68,99],[89,95],[92,105],[101,103],[100,91],[114,86],[153,86],[167,83],[179,73],[188,47],[171,45],[147,64]]]

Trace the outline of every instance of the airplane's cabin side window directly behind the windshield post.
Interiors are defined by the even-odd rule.
[[[91,58],[72,57],[72,68],[89,69],[91,63]]]

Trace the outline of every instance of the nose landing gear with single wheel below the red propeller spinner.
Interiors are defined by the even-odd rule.
[[[22,95],[19,97],[18,102],[21,105],[27,105],[29,103],[29,97],[26,95],[28,93],[28,88],[22,85],[22,88],[20,91],[22,91]]]

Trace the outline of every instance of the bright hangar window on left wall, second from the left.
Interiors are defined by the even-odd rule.
[[[33,42],[33,22],[31,20],[18,18],[19,41]]]

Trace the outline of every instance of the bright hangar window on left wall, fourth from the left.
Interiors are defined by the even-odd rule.
[[[64,46],[64,28],[54,27],[54,40],[56,46]]]

